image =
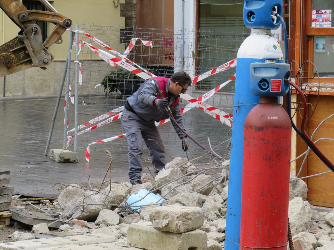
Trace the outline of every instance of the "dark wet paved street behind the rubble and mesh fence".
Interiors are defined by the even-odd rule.
[[[63,145],[63,100],[60,101],[49,149],[62,148]],[[88,105],[79,106],[79,123],[122,105],[122,100],[111,100],[105,97],[85,97],[81,98],[80,102],[82,100],[85,100]],[[78,163],[57,163],[50,160],[49,156],[44,156],[55,104],[56,97],[0,98],[0,170],[11,171],[10,183],[15,187],[15,193],[58,193],[57,186],[53,187],[57,182],[86,183],[89,175],[91,183],[100,183],[110,163],[106,150],[110,151],[113,157],[112,181],[127,181],[129,166],[125,138],[91,146],[89,163],[84,155],[89,143],[125,133],[120,120],[78,137]],[[73,121],[74,117],[70,113],[69,129],[73,127]],[[186,130],[206,147],[209,147],[207,136],[210,137],[213,147],[230,138],[231,133],[227,134],[228,126],[222,125],[197,108],[184,114],[184,121]],[[170,123],[159,126],[159,131],[169,155],[173,158],[187,157],[181,151],[181,141],[176,138]],[[68,148],[71,151],[73,151],[73,142],[74,139]],[[229,149],[226,149],[226,145],[217,148],[216,153],[220,155],[228,153]],[[190,158],[192,158],[190,153],[194,158],[204,154],[193,142],[190,142],[188,152]],[[145,150],[143,159],[149,159],[148,149]],[[166,156],[166,162],[169,161],[171,159]],[[208,158],[204,162],[207,161]],[[153,170],[150,161],[148,165]],[[143,168],[143,172],[148,172],[145,164]]]

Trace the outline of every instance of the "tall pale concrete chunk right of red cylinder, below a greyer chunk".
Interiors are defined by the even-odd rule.
[[[289,201],[289,221],[292,235],[307,231],[310,228],[308,221],[311,220],[311,217],[312,212],[307,201],[303,201],[301,197],[295,197]]]

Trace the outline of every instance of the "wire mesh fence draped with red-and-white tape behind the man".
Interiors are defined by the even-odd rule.
[[[136,91],[144,82],[144,79],[134,73],[138,71],[127,70],[125,67],[117,66],[112,60],[106,60],[105,54],[97,53],[98,49],[110,53],[122,59],[126,56],[129,60],[123,59],[126,64],[135,66],[142,70],[146,69],[156,76],[170,77],[174,72],[185,70],[194,78],[195,76],[209,72],[208,77],[198,81],[188,88],[187,94],[194,98],[203,98],[211,89],[222,83],[225,85],[205,103],[214,106],[217,110],[223,110],[228,114],[233,112],[233,91],[235,67],[217,73],[231,59],[236,58],[237,50],[243,40],[249,35],[242,32],[222,32],[222,31],[184,31],[161,30],[135,28],[131,31],[122,30],[114,26],[94,26],[79,25],[79,30],[85,33],[79,34],[81,50],[79,52],[79,62],[82,68],[82,85],[78,87],[78,151],[79,160],[84,160],[84,152],[87,146],[96,141],[122,135],[125,133],[120,119],[109,122],[106,125],[94,125],[104,122],[113,116],[105,117],[94,124],[87,123],[102,114],[113,111],[117,116],[122,109],[117,109],[124,105],[126,98]],[[89,34],[89,35],[88,35]],[[94,38],[100,40],[97,43]],[[134,44],[130,53],[129,46],[131,39],[139,38]],[[85,41],[82,43],[82,41]],[[152,41],[152,47],[145,44]],[[91,47],[89,47],[91,45]],[[129,46],[129,47],[128,47]],[[92,49],[94,47],[94,49]],[[74,48],[74,47],[73,47]],[[115,51],[117,52],[115,52]],[[126,55],[123,55],[123,54]],[[72,53],[73,54],[73,53]],[[109,62],[109,63],[108,63]],[[74,66],[71,62],[70,85],[71,96],[74,96]],[[137,66],[136,66],[137,65]],[[132,72],[131,72],[132,71]],[[181,99],[181,107],[186,106],[188,101]],[[74,104],[69,103],[68,136],[74,135]],[[219,116],[218,116],[219,117]],[[116,118],[116,117],[114,117]],[[198,107],[192,107],[183,114],[186,130],[193,135],[196,140],[203,143],[207,148],[215,147],[219,143],[230,138],[231,126],[221,122],[217,118],[217,113],[204,112]],[[96,119],[95,119],[96,121]],[[87,126],[86,126],[87,125]],[[173,158],[176,156],[186,157],[181,152],[181,141],[178,139],[174,128],[170,122],[158,126],[162,139],[165,142],[166,151]],[[85,132],[84,130],[87,130]],[[208,141],[208,137],[209,140]],[[74,140],[71,140],[68,149],[73,147]],[[59,145],[62,144],[62,135],[59,135]],[[219,146],[215,152],[224,156],[229,153],[228,142]],[[193,142],[189,145],[191,157],[203,154],[203,150]],[[127,162],[127,141],[120,138],[111,142],[96,143],[90,146],[92,156],[96,152],[110,151],[117,156],[120,163]],[[107,156],[106,156],[107,157]],[[190,155],[189,155],[190,157]],[[144,153],[143,159],[149,159],[148,150]],[[116,160],[117,161],[117,160]],[[169,160],[167,160],[168,162]],[[115,162],[114,162],[115,163]]]

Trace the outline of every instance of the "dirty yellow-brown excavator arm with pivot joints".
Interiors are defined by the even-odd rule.
[[[0,77],[32,67],[46,69],[53,62],[47,49],[62,43],[61,35],[72,21],[57,13],[46,0],[40,2],[50,11],[27,10],[20,0],[0,0],[0,8],[21,29],[17,37],[0,46]],[[55,24],[44,43],[36,21]]]

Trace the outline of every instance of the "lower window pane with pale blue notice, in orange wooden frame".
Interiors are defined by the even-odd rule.
[[[334,77],[333,58],[334,36],[315,36],[313,38],[313,62],[320,77]]]

